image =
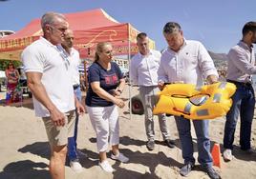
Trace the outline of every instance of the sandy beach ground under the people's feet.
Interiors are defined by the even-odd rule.
[[[188,177],[181,177],[179,168],[183,160],[181,157],[181,144],[173,117],[168,117],[168,126],[171,137],[175,140],[177,147],[169,149],[162,143],[158,119],[155,119],[156,148],[153,151],[146,149],[146,135],[144,129],[143,115],[131,115],[128,109],[127,87],[122,95],[126,100],[124,109],[119,109],[120,124],[120,150],[130,158],[129,163],[121,164],[109,159],[116,171],[106,173],[97,165],[98,156],[96,152],[96,134],[92,128],[88,114],[84,114],[79,121],[78,149],[88,154],[88,158],[81,158],[83,171],[75,173],[66,164],[67,179],[206,179],[199,164]],[[138,93],[133,88],[132,95]],[[1,93],[3,99],[4,93]],[[3,102],[3,100],[1,100]],[[23,103],[14,106],[0,104],[0,179],[48,179],[51,178],[48,170],[50,149],[47,141],[43,122],[34,117],[32,100],[26,99]],[[253,153],[245,153],[239,149],[239,127],[237,125],[235,135],[235,159],[225,163],[221,158],[222,168],[218,170],[224,179],[250,179],[256,178],[256,122],[252,127]],[[192,128],[192,130],[194,130]],[[210,139],[211,145],[220,143],[223,150],[224,117],[211,120]],[[195,157],[197,158],[197,141],[193,131]]]

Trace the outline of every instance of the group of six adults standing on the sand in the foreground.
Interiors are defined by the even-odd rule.
[[[69,29],[65,16],[47,12],[41,18],[43,36],[22,52],[28,86],[32,90],[36,116],[42,117],[51,145],[50,173],[53,179],[65,178],[65,160],[68,153],[70,166],[75,171],[82,169],[76,149],[78,118],[85,109],[81,104],[79,89],[79,54],[73,48],[74,33]],[[152,109],[156,105],[156,93],[166,83],[188,83],[203,86],[218,82],[218,72],[203,44],[186,40],[181,26],[168,22],[163,27],[163,36],[168,48],[160,53],[149,50],[147,34],[137,36],[139,48],[131,60],[132,82],[139,85],[139,93],[145,111],[145,130],[149,150],[155,148],[155,132]],[[243,39],[229,53],[227,81],[237,86],[233,95],[233,106],[227,113],[224,130],[224,158],[232,159],[232,145],[236,123],[241,114],[241,149],[249,150],[250,129],[255,104],[250,75],[256,73],[252,43],[256,42],[256,22],[245,24]],[[129,158],[118,149],[118,108],[124,107],[120,95],[125,86],[123,74],[112,62],[113,47],[109,42],[98,43],[95,62],[88,71],[89,89],[85,105],[93,128],[96,131],[96,147],[99,167],[107,172],[115,169],[107,159],[108,145],[112,146],[111,158],[126,163]],[[240,111],[240,112],[239,112]],[[191,122],[175,116],[184,159],[180,173],[186,176],[195,166]],[[159,115],[160,131],[164,144],[174,148],[166,124],[166,115]],[[209,121],[194,120],[197,135],[198,161],[210,178],[221,178],[212,168],[210,153]]]

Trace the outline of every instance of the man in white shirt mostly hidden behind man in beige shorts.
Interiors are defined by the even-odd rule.
[[[79,74],[79,65],[81,64],[79,52],[73,48],[73,41],[74,41],[74,32],[73,30],[67,30],[64,41],[61,43],[61,46],[64,50],[68,53],[70,59],[70,69],[72,73],[72,84],[73,89],[75,92],[76,98],[81,102],[82,100],[82,92],[80,89],[80,74]],[[79,121],[79,114],[75,109],[75,132],[73,137],[69,137],[68,140],[68,158],[70,161],[70,167],[76,172],[82,170],[82,166],[79,163],[78,152],[79,154],[83,154],[81,151],[76,149],[77,143],[77,129],[78,129],[78,121]],[[83,154],[84,156],[86,154]]]

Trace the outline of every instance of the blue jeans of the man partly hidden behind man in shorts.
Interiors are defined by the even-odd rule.
[[[81,102],[82,100],[82,92],[80,87],[74,90],[76,98]],[[77,109],[75,109],[75,131],[74,136],[68,138],[68,157],[70,161],[78,161],[78,155],[76,152],[76,139],[77,139],[77,126],[79,121],[79,115],[77,113]]]

